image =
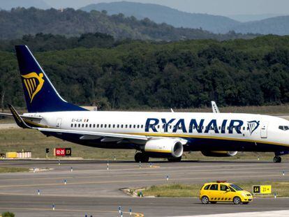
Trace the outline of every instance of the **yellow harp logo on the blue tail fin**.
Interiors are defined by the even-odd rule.
[[[27,75],[21,75],[23,77],[23,82],[25,84],[25,87],[27,89],[30,103],[32,103],[32,100],[34,96],[42,89],[43,87],[43,73],[29,73]]]

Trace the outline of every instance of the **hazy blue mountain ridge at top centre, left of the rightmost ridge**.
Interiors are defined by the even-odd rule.
[[[174,27],[202,28],[214,33],[226,33],[240,22],[228,17],[208,15],[204,13],[186,13],[177,9],[154,3],[138,3],[130,1],[115,1],[110,3],[93,3],[80,10],[106,10],[109,15],[123,13],[126,17],[135,16],[138,19],[148,17],[156,23],[170,24]]]

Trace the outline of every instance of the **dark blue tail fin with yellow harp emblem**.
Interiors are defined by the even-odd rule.
[[[26,45],[15,50],[28,112],[85,111],[61,98]]]

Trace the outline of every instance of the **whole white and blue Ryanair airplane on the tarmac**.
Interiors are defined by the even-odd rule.
[[[135,162],[184,151],[234,156],[237,151],[273,152],[274,163],[289,154],[289,121],[260,114],[89,111],[66,102],[26,45],[15,46],[28,113],[9,105],[21,128],[104,149],[135,149]]]

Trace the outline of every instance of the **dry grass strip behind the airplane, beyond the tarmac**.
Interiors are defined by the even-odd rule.
[[[54,137],[46,137],[37,130],[28,129],[0,129],[0,153],[8,151],[32,151],[32,158],[45,158],[45,149],[50,149],[50,158],[53,157],[53,149],[57,147],[71,147],[72,156],[84,159],[112,160],[114,156],[117,160],[133,160],[135,150],[119,149],[98,149],[94,147],[84,147],[79,144],[65,142]],[[230,158],[214,158],[202,156],[200,152],[184,153],[184,160],[272,160],[272,153],[238,153]],[[288,160],[288,156],[283,156]]]

